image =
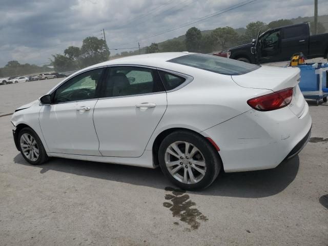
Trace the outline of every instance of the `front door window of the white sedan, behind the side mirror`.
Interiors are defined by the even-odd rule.
[[[66,81],[56,90],[54,103],[96,98],[96,88],[104,71],[104,68],[91,70]]]

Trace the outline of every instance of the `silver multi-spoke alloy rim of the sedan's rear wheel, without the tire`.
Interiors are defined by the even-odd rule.
[[[170,174],[182,183],[198,183],[206,174],[203,154],[187,141],[173,142],[167,148],[165,164]]]

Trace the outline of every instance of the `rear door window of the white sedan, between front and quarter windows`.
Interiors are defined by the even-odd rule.
[[[105,87],[104,97],[165,91],[155,70],[138,67],[111,67]]]

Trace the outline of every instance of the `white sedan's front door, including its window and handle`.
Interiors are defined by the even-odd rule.
[[[91,70],[66,81],[52,93],[53,103],[40,110],[40,126],[50,152],[101,155],[93,110],[104,71]]]

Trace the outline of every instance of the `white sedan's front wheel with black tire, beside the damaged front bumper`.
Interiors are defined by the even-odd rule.
[[[23,137],[24,136],[24,137]],[[32,152],[32,156],[29,155],[29,153],[31,152],[30,148],[33,144],[33,140],[31,141],[32,138],[30,138],[29,136],[31,136],[34,140],[35,140],[35,144],[33,145],[34,150],[38,150],[38,156],[36,158],[36,153],[37,151],[35,150],[34,152]],[[28,142],[28,140],[30,140],[30,144]],[[46,153],[46,150],[42,144],[42,141],[40,140],[40,138],[37,136],[37,134],[31,129],[31,128],[23,128],[22,130],[19,131],[18,133],[18,146],[19,146],[19,151],[20,153],[23,155],[24,159],[29,162],[32,165],[41,165],[42,163],[46,162],[48,160],[48,155]],[[28,146],[27,149],[24,146]]]

